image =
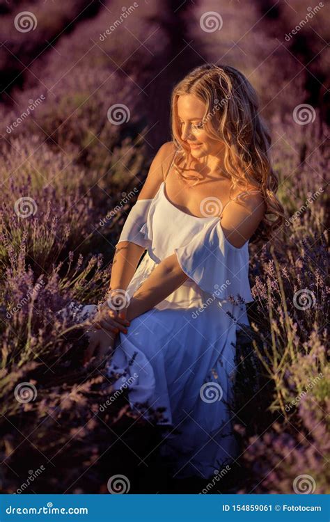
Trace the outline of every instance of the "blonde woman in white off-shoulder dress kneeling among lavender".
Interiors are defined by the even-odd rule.
[[[132,408],[165,408],[161,451],[175,478],[207,479],[237,456],[228,404],[237,323],[249,325],[253,301],[249,239],[269,237],[281,205],[269,134],[242,73],[196,68],[175,86],[171,117],[173,141],[155,155],[116,244],[107,301],[96,315],[85,307],[86,361],[114,348],[115,389],[127,383]]]

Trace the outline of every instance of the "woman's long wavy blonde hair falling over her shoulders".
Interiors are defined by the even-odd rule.
[[[269,239],[285,219],[283,206],[276,198],[278,177],[272,169],[269,148],[272,138],[258,114],[258,95],[242,72],[229,65],[206,64],[192,70],[173,89],[171,96],[172,139],[177,149],[173,166],[178,175],[189,164],[189,146],[182,141],[178,122],[178,97],[191,94],[205,103],[203,131],[224,145],[225,176],[230,191],[253,187],[262,193],[267,209],[251,241]],[[189,176],[191,179],[191,176]],[[231,196],[230,196],[231,199]],[[269,219],[273,214],[275,219]]]

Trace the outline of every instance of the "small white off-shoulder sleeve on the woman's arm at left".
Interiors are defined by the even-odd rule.
[[[143,248],[148,248],[149,239],[141,229],[146,224],[151,203],[152,199],[140,199],[136,201],[135,205],[133,205],[129,211],[116,246],[122,241],[129,241],[136,245],[143,246]]]

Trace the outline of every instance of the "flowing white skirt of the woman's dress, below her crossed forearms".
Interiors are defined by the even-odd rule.
[[[154,267],[146,252],[127,288],[129,296]],[[237,457],[229,406],[236,373],[233,317],[249,324],[245,305],[214,299],[188,279],[116,338],[107,364],[109,375],[120,374],[114,392],[128,388],[135,411],[143,402],[166,409],[159,420],[166,427],[160,452],[175,478],[208,479]],[[141,413],[149,418],[145,409]]]

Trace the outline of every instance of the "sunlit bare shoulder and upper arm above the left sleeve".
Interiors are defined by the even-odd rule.
[[[173,159],[174,152],[175,145],[173,141],[166,141],[166,143],[163,143],[163,145],[159,147],[154,159],[152,159],[146,181],[139,193],[139,200],[152,199],[155,197],[160,185],[164,181],[164,173]]]

